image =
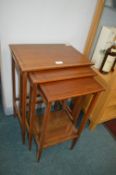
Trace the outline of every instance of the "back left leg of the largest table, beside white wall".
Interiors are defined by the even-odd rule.
[[[13,94],[13,113],[14,116],[16,116],[16,110],[15,110],[15,105],[16,105],[16,79],[15,79],[15,61],[12,57],[12,94]]]

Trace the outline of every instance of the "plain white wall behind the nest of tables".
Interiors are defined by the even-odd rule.
[[[0,0],[3,104],[12,113],[9,43],[67,42],[83,51],[97,0]]]

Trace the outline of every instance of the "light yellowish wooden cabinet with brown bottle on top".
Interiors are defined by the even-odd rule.
[[[116,69],[109,74],[101,74],[94,68],[97,73],[97,81],[104,86],[105,91],[101,93],[90,114],[90,129],[94,129],[98,124],[116,118]],[[85,100],[84,110],[86,111],[91,97]]]

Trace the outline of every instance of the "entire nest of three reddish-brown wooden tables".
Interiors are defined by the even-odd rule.
[[[84,129],[90,111],[94,107],[94,101],[97,94],[103,90],[102,86],[94,80],[96,73],[90,68],[92,64],[74,48],[62,44],[11,45],[10,48],[13,60],[13,106],[21,122],[23,143],[25,143],[27,127],[29,131],[29,148],[31,149],[32,136],[34,134],[38,144],[38,159],[40,159],[44,147],[63,142],[65,140],[73,139],[71,145],[71,148],[73,148],[80,136],[80,133]],[[60,56],[62,56],[63,59],[56,59],[56,56],[58,56],[58,58],[61,58]],[[55,61],[60,62],[57,62],[57,65]],[[19,109],[16,105],[15,67],[18,68],[20,75]],[[28,77],[31,84],[29,123],[26,115]],[[37,122],[37,117],[35,117],[37,87],[39,87],[39,94],[46,103],[42,123],[40,120]],[[77,115],[79,115],[83,104],[83,96],[91,93],[94,96],[94,100],[92,100],[90,108],[88,108],[88,112],[80,125],[81,130],[78,130],[76,128],[76,121],[78,119]],[[69,109],[65,103],[65,99],[71,97],[79,98],[79,100],[76,101],[73,110]],[[62,120],[58,119],[54,121],[57,117],[52,117],[50,109],[52,102],[57,100],[60,100],[65,113],[63,112],[62,114]],[[77,106],[76,108],[76,105],[80,106]],[[54,113],[54,115],[56,116],[57,114]],[[66,116],[68,118],[66,118]],[[52,129],[49,130],[49,128],[51,128],[51,124],[49,122],[50,119],[51,123],[54,124],[53,130],[56,128],[54,132],[51,132]],[[64,125],[61,127],[62,124],[67,125],[68,130],[65,130]]]

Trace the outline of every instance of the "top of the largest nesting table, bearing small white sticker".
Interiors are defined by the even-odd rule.
[[[88,58],[66,44],[10,44],[21,71],[38,71],[91,65]]]

